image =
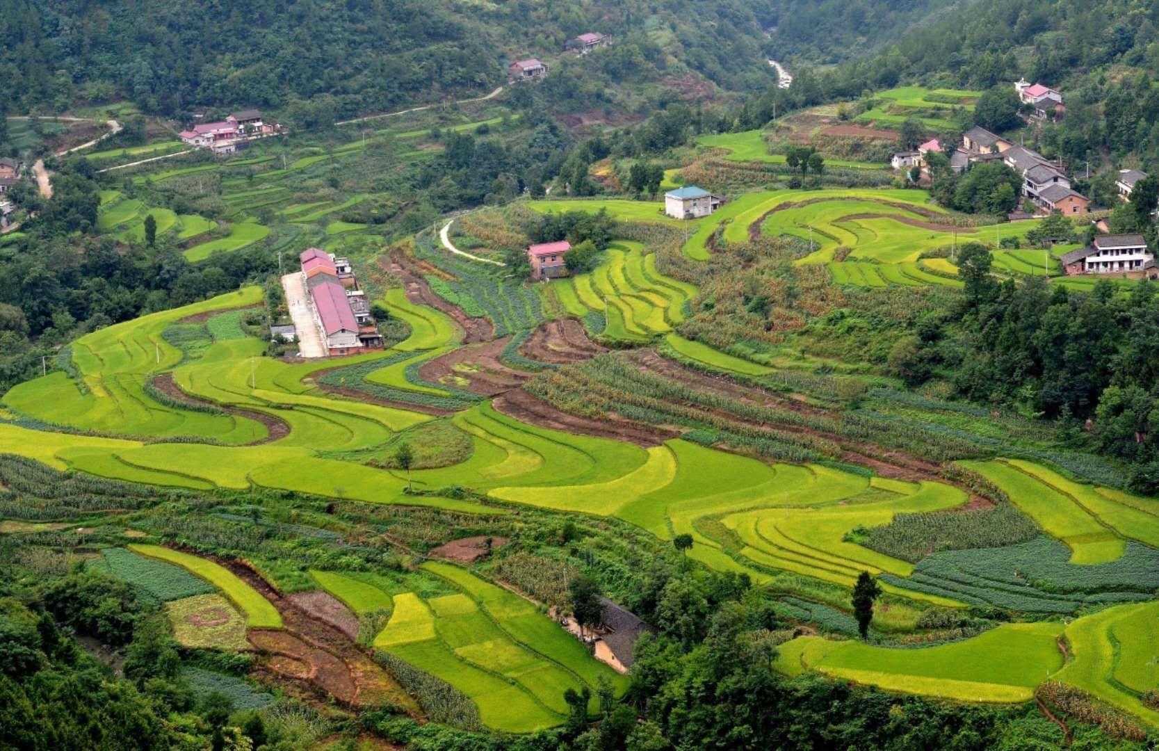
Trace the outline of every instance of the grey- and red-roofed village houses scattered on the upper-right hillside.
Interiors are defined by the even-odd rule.
[[[1019,100],[1029,105],[1027,119],[1058,119],[1066,111],[1063,95],[1041,83],[1029,83],[1020,80],[1014,85]],[[923,175],[930,175],[927,154],[945,153],[947,150],[936,139],[918,146],[916,151],[904,151],[894,154],[894,169],[911,169],[919,167]],[[986,161],[1001,161],[1022,177],[1022,197],[1035,206],[1035,214],[1044,216],[1059,212],[1064,216],[1085,216],[1091,202],[1086,196],[1071,187],[1060,161],[1051,161],[1038,152],[1021,146],[990,132],[985,127],[971,127],[962,134],[962,143],[949,152],[949,166],[955,173],[961,173],[970,165]],[[1122,169],[1115,182],[1120,197],[1130,200],[1131,191],[1146,174],[1137,169]],[[1014,211],[1008,219],[1012,221],[1030,219],[1033,214]],[[1100,221],[1099,229],[1107,231],[1107,225]],[[1085,248],[1072,250],[1062,256],[1063,268],[1069,275],[1078,274],[1128,274],[1130,276],[1147,276],[1156,278],[1154,254],[1147,248],[1146,241],[1139,234],[1100,235]]]

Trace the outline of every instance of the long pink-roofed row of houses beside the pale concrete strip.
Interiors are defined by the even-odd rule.
[[[349,258],[307,248],[299,261],[313,325],[321,334],[326,353],[353,355],[381,349],[382,335],[378,333],[366,293],[358,287]],[[293,326],[274,326],[270,335],[294,341],[302,338],[304,333]]]

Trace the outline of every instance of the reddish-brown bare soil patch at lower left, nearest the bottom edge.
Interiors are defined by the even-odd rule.
[[[417,716],[418,705],[358,647],[342,629],[315,618],[294,599],[284,597],[253,569],[240,561],[219,561],[274,604],[282,614],[282,630],[250,629],[250,643],[275,657],[305,663],[308,673],[284,659],[272,657],[255,669],[255,675],[276,683],[286,683],[296,694],[313,695],[319,701],[330,697],[353,707],[377,706],[389,702]],[[284,671],[284,672],[283,672]]]

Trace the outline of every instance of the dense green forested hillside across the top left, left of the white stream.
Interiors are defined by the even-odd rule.
[[[123,96],[167,115],[321,100],[342,116],[484,94],[508,63],[551,63],[568,38],[600,31],[617,44],[589,74],[622,81],[691,68],[741,89],[768,80],[765,5],[0,0],[0,80],[13,112]]]

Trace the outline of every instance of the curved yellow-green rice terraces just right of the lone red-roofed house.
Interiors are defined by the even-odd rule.
[[[556,279],[551,290],[569,315],[602,313],[604,337],[633,343],[671,331],[697,294],[695,286],[659,274],[643,245],[628,241],[613,243],[591,272]]]

